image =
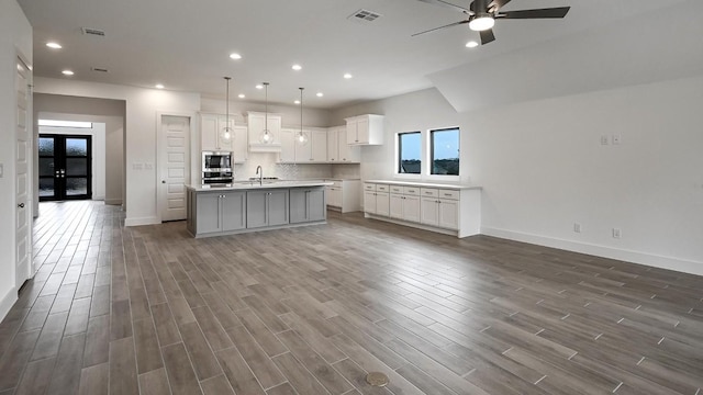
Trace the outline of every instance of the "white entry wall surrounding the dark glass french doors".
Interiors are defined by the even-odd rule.
[[[42,116],[40,114],[38,120],[56,120],[53,116]],[[68,121],[68,120],[60,120]],[[71,120],[77,121],[77,120]],[[86,121],[90,122],[90,121]],[[55,126],[40,126],[41,134],[57,134],[57,135],[74,135],[74,136],[90,136],[90,171],[91,171],[91,192],[92,200],[105,200],[105,124],[100,122],[93,122],[91,128],[86,127],[55,127]],[[38,167],[38,166],[36,166]],[[38,196],[38,193],[35,195]]]

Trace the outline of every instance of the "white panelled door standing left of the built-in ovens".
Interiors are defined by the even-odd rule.
[[[161,222],[186,219],[186,184],[190,183],[190,117],[161,115],[158,157]]]

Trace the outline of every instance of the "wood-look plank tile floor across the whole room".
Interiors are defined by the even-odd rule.
[[[41,212],[0,394],[703,394],[701,276],[358,214],[193,239]]]

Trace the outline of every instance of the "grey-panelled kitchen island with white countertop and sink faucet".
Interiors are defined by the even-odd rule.
[[[186,185],[188,232],[194,237],[317,225],[327,222],[326,181],[238,181]]]

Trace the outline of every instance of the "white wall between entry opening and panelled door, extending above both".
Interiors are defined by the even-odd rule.
[[[200,109],[197,93],[171,92],[108,83],[36,78],[35,91],[87,98],[124,100],[125,120],[125,224],[144,225],[160,221],[157,192],[157,113],[190,114]],[[135,165],[142,165],[137,169]]]

